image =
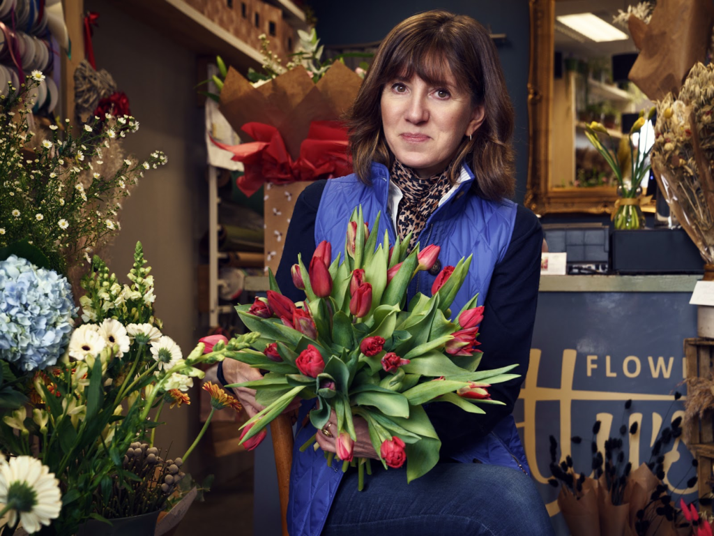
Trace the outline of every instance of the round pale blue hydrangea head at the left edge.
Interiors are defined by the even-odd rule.
[[[15,255],[0,261],[0,359],[25,371],[55,364],[76,310],[65,277]]]

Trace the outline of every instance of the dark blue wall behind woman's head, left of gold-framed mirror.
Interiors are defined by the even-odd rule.
[[[506,34],[498,45],[508,91],[516,106],[516,202],[523,202],[528,178],[528,2],[523,0],[363,0],[345,4],[312,0],[322,44],[357,44],[380,41],[398,22],[429,9],[448,9],[473,16],[493,34]]]

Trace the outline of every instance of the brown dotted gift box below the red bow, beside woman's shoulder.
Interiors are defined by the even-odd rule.
[[[293,209],[298,200],[298,195],[310,182],[293,182],[291,184],[266,184],[265,189],[265,267],[273,270],[273,274],[278,271],[278,264],[283,255],[285,247],[285,237],[288,233],[288,224],[293,216]],[[290,259],[291,264],[298,262],[298,259]],[[303,264],[310,263],[310,259],[303,259]]]

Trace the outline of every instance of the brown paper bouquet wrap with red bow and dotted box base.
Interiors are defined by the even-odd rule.
[[[265,191],[265,251],[266,268],[273,272],[307,181],[351,172],[346,130],[331,121],[338,121],[351,106],[361,83],[361,77],[339,61],[317,83],[302,66],[258,87],[235,69],[228,70],[221,113],[235,131],[256,141],[223,148],[246,165],[246,174],[238,179],[244,193],[271,184]]]

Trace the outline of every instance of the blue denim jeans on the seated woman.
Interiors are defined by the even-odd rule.
[[[372,467],[378,463],[373,460]],[[323,536],[553,536],[535,483],[521,471],[480,463],[439,463],[411,484],[403,470],[345,475]]]

